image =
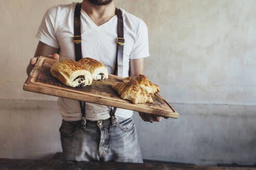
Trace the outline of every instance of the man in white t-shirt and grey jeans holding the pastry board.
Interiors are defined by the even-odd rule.
[[[75,60],[72,41],[75,6],[75,3],[59,5],[46,12],[36,35],[39,44],[35,56]],[[134,77],[144,74],[144,58],[149,56],[147,26],[137,17],[121,11],[125,38],[122,74]],[[84,0],[81,4],[82,56],[102,62],[111,74],[116,64],[117,22],[112,0]],[[30,64],[34,65],[36,59],[32,58]],[[117,108],[113,121],[109,114],[111,107],[86,103],[86,127],[82,128],[79,102],[59,98],[57,103],[63,118],[60,134],[65,159],[143,162],[131,110]],[[139,115],[151,123],[162,119],[142,112]]]

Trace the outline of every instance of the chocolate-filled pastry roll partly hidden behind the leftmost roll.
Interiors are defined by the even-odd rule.
[[[92,58],[83,58],[78,61],[92,74],[93,80],[104,80],[108,78],[108,69],[105,65]]]

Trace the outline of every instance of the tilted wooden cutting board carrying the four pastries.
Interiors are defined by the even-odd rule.
[[[123,109],[146,112],[170,118],[178,118],[178,113],[159,94],[151,94],[153,103],[133,104],[123,100],[112,89],[112,84],[122,81],[121,77],[109,74],[109,78],[93,81],[90,86],[72,88],[65,86],[50,74],[50,67],[56,61],[41,56],[37,60],[30,76],[25,81],[23,89],[26,91],[70,98],[73,100],[97,103]],[[161,88],[161,87],[160,87]]]

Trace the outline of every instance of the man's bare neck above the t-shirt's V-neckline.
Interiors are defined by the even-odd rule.
[[[82,3],[82,9],[92,19],[96,25],[102,25],[115,15],[115,6],[113,1],[107,5],[95,5],[87,0]]]

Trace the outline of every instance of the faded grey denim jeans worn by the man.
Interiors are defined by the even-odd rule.
[[[143,163],[132,118],[86,120],[85,128],[81,123],[62,120],[59,131],[65,160]]]

